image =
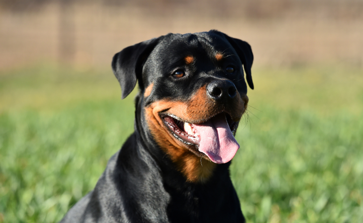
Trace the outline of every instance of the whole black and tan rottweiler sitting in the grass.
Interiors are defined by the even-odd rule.
[[[248,43],[216,30],[168,34],[112,60],[135,132],[61,223],[243,223],[229,176],[253,89]]]

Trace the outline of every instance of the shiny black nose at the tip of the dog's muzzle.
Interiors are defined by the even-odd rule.
[[[230,80],[214,80],[207,85],[207,95],[215,101],[232,99],[236,94],[236,86]]]

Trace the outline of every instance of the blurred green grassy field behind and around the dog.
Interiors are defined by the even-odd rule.
[[[248,222],[363,222],[362,73],[253,69],[231,167]],[[133,131],[133,95],[110,68],[1,70],[0,223],[58,222]]]

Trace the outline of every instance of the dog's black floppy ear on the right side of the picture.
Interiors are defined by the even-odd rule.
[[[240,57],[243,67],[245,68],[247,83],[251,89],[254,89],[252,74],[251,74],[251,67],[253,63],[253,54],[251,46],[245,41],[229,37],[226,34],[224,34],[224,36],[226,37],[228,42],[232,45],[232,47],[236,50],[238,56]]]

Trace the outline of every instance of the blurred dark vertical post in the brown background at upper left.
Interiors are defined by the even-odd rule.
[[[59,0],[59,62],[73,63],[76,54],[75,11],[72,0]]]

